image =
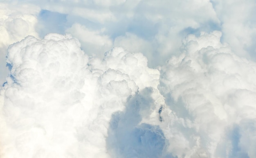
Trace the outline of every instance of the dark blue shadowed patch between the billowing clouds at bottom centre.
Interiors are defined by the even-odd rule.
[[[143,89],[129,98],[124,112],[113,113],[108,130],[107,148],[112,157],[170,157],[162,130],[157,125],[141,122],[143,114],[154,106],[152,89]],[[145,112],[146,111],[146,112]]]

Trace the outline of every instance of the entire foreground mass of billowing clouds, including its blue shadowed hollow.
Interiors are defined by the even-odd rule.
[[[256,64],[189,35],[159,69],[115,47],[89,57],[70,35],[8,49],[1,157],[255,157]]]

